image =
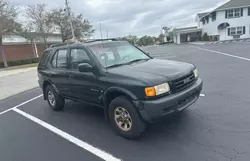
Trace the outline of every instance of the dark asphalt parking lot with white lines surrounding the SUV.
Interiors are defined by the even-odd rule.
[[[102,109],[67,101],[54,112],[35,88],[0,101],[0,160],[248,161],[250,43],[144,50],[197,66],[204,95],[195,105],[130,141],[112,131]]]

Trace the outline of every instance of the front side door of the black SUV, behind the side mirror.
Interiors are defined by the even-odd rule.
[[[69,79],[71,81],[71,96],[75,99],[100,104],[101,90],[99,81],[94,72],[80,72],[78,65],[92,64],[92,61],[83,48],[70,50]]]

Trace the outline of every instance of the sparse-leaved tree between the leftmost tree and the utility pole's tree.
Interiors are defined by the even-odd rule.
[[[47,46],[48,34],[54,31],[47,5],[29,5],[26,9],[26,18],[29,30],[41,33],[44,44]]]

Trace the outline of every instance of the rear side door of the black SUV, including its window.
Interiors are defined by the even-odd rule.
[[[64,96],[69,96],[69,73],[68,73],[69,49],[58,49],[51,60],[50,81]]]

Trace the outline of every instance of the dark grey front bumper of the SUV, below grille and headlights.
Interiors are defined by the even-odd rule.
[[[199,78],[191,87],[182,92],[168,95],[157,100],[136,101],[142,118],[148,122],[154,122],[170,113],[182,111],[199,98],[203,82]]]

